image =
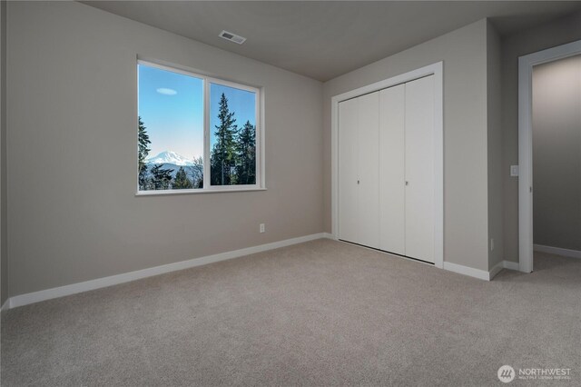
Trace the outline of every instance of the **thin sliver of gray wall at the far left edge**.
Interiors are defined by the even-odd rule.
[[[0,305],[8,298],[6,236],[6,2],[0,2]]]

